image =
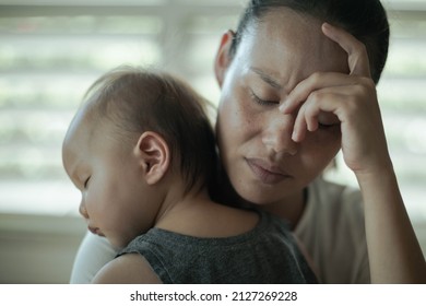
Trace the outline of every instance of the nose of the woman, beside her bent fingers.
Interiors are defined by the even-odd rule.
[[[265,123],[262,137],[263,144],[275,153],[295,155],[298,144],[293,141],[294,116],[281,113],[271,116]]]

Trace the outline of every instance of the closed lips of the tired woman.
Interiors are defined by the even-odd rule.
[[[280,167],[271,165],[270,163],[260,158],[246,158],[247,164],[253,174],[263,183],[268,185],[277,184],[284,179],[292,178],[291,175],[282,170]]]

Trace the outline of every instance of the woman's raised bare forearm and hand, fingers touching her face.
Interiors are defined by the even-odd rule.
[[[340,120],[342,152],[365,203],[372,283],[426,283],[426,263],[402,201],[388,152],[376,87],[365,46],[348,33],[323,26],[348,55],[350,74],[321,72],[301,81],[281,110],[298,109],[294,141],[318,129],[318,115]]]

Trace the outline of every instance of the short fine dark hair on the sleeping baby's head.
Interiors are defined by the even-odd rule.
[[[135,144],[144,131],[161,134],[171,152],[170,165],[180,164],[186,191],[214,179],[217,157],[208,116],[213,106],[182,80],[154,69],[120,67],[95,81],[85,99],[93,120],[115,125],[123,148]]]

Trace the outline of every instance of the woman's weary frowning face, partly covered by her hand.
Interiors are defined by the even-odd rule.
[[[249,25],[233,59],[225,34],[215,71],[222,89],[217,117],[221,158],[237,193],[258,204],[285,202],[331,162],[340,149],[340,126],[319,118],[320,129],[296,143],[296,114],[280,104],[317,71],[347,72],[347,58],[321,32],[321,23],[287,9]]]

